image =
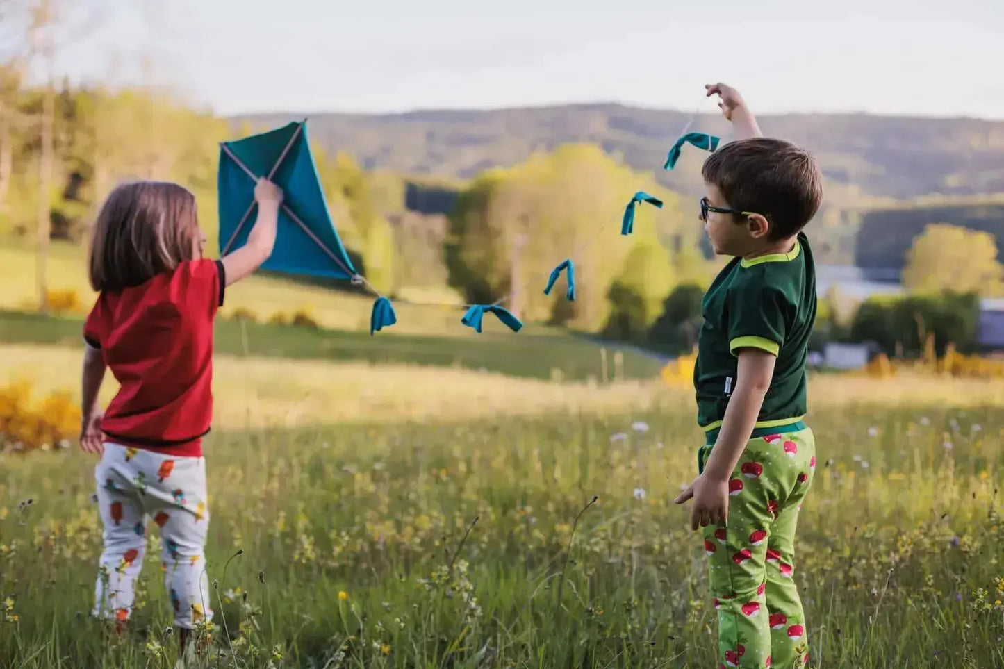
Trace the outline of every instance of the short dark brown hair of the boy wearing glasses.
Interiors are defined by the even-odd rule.
[[[783,140],[731,142],[705,161],[701,174],[705,183],[722,192],[730,208],[764,216],[771,239],[804,228],[822,202],[822,175],[815,160]]]

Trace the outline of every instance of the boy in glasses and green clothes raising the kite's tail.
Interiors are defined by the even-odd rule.
[[[701,219],[715,253],[733,258],[702,304],[694,386],[707,438],[699,475],[676,501],[693,498],[691,524],[703,528],[722,666],[803,667],[792,573],[815,467],[802,418],[816,287],[801,229],[819,208],[822,179],[806,152],[761,135],[734,88],[707,89],[721,97],[736,141],[705,162]]]

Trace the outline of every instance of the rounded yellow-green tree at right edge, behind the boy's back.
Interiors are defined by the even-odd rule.
[[[903,283],[916,292],[976,292],[999,295],[1004,267],[997,243],[988,232],[948,223],[930,223],[914,239],[903,270]]]

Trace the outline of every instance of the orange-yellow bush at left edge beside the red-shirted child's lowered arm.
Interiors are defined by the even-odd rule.
[[[67,393],[35,405],[26,382],[0,387],[0,450],[66,448],[80,429],[80,409]]]

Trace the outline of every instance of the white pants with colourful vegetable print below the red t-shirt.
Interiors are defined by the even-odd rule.
[[[209,525],[205,459],[105,443],[94,478],[104,550],[93,615],[129,619],[152,518],[161,532],[161,566],[175,626],[192,629],[212,620],[204,554]]]

